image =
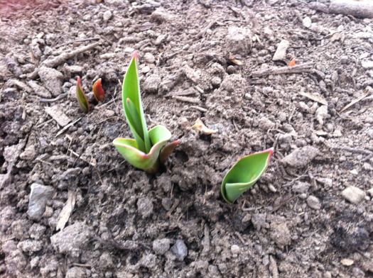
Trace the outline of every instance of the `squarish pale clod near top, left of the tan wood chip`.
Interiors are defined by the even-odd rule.
[[[226,49],[232,54],[246,55],[252,50],[252,33],[247,28],[229,26]]]

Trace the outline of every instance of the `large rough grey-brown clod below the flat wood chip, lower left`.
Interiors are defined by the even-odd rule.
[[[85,223],[76,222],[50,237],[53,248],[66,255],[78,257],[90,241],[92,231]]]

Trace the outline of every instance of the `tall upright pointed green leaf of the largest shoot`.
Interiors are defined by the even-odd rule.
[[[141,104],[139,71],[137,67],[138,59],[137,52],[134,52],[126,74],[124,74],[121,97],[126,121],[129,124],[131,132],[134,134],[138,148],[142,152],[148,153],[152,145],[148,134],[148,127],[146,126],[144,109]]]

